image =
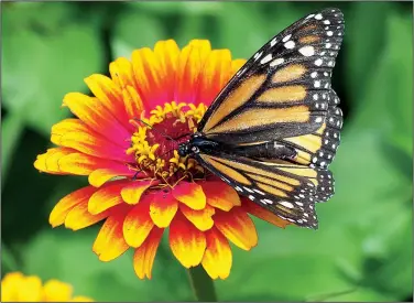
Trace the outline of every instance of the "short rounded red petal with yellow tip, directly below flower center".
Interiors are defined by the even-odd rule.
[[[178,209],[178,202],[163,192],[152,196],[150,216],[157,227],[167,227]]]

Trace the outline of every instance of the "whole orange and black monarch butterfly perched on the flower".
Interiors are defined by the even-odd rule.
[[[342,13],[325,9],[274,36],[220,91],[178,154],[281,218],[317,229],[314,206],[334,194],[328,165],[342,127],[330,87],[342,35]]]

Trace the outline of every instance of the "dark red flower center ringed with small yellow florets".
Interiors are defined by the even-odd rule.
[[[179,156],[177,149],[196,131],[206,109],[204,104],[172,101],[151,110],[148,118],[143,112],[141,119],[131,120],[137,131],[127,153],[135,155],[137,172],[170,186],[183,178],[204,177],[204,169],[194,159]]]

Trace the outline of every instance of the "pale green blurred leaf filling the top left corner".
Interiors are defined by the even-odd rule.
[[[33,13],[26,3],[4,8],[3,106],[19,112],[29,126],[48,133],[69,115],[64,95],[86,91],[83,79],[101,62],[97,29],[67,22],[72,4],[42,3]]]

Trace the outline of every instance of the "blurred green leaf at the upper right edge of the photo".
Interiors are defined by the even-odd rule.
[[[366,93],[357,89],[360,106],[353,109],[358,113],[355,123],[359,127],[380,128],[390,136],[400,133],[407,142],[412,141],[411,41],[411,20],[391,11],[386,18],[384,51],[372,73],[367,75]]]

